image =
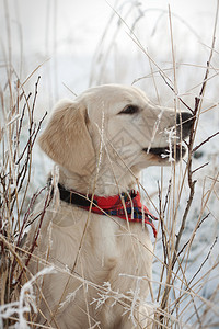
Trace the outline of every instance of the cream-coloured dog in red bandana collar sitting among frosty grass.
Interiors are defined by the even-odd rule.
[[[28,234],[32,245],[39,230],[32,273],[48,264],[56,270],[37,281],[38,324],[152,326],[146,298],[153,258],[150,229],[155,235],[158,213],[153,216],[140,202],[139,174],[183,158],[181,141],[191,127],[188,112],[158,106],[140,89],[120,84],[91,88],[55,106],[39,146],[57,164],[58,179],[50,183],[49,205],[37,205]]]

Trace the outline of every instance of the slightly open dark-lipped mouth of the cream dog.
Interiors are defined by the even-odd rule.
[[[186,148],[181,144],[176,144],[173,145],[171,148],[169,146],[151,147],[150,149],[143,148],[143,151],[146,151],[149,155],[155,156],[159,160],[162,161],[180,161],[185,156]]]

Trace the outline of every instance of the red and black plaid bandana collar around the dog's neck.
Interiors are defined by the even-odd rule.
[[[92,195],[83,195],[73,190],[66,190],[61,184],[58,184],[60,200],[77,204],[78,206],[89,211]],[[149,209],[141,204],[140,194],[131,190],[129,193],[122,193],[113,196],[93,196],[93,205],[91,212],[95,214],[117,216],[128,222],[145,223],[152,227],[153,235],[157,237],[157,229],[153,220],[158,220]]]

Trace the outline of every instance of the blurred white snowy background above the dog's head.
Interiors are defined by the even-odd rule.
[[[209,56],[216,8],[217,0],[1,0],[1,82],[5,63],[21,82],[41,66],[33,76],[42,76],[38,102],[51,106],[72,97],[68,88],[78,94],[90,86],[131,84],[147,76],[136,84],[158,101],[153,71],[168,102],[172,93],[155,71],[165,69],[173,79],[171,15],[178,93],[194,95]],[[215,68],[218,60],[217,54]],[[217,88],[218,77],[208,90],[214,102]]]

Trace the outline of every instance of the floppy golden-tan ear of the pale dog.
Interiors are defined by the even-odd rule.
[[[95,154],[87,127],[85,106],[60,101],[38,143],[55,162],[80,175],[87,174]]]

